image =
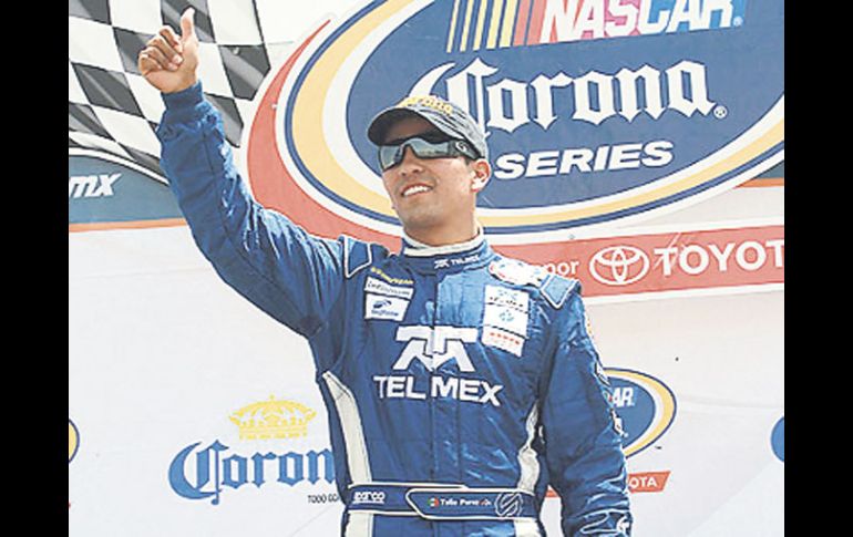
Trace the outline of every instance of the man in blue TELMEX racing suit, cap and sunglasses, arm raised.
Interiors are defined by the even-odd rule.
[[[627,536],[610,388],[578,285],[496,255],[476,223],[483,133],[438,97],[379,114],[402,251],[308,235],[249,195],[196,75],[192,11],[140,53],[163,92],[162,166],[222,278],[310,343],[352,536]]]

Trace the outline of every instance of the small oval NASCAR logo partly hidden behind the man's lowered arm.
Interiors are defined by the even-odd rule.
[[[639,371],[605,368],[613,403],[626,433],[623,451],[635,455],[656,442],[676,419],[676,397],[660,380]]]

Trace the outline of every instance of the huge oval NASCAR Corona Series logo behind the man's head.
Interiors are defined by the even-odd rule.
[[[783,6],[746,16],[746,0],[367,3],[270,72],[253,190],[317,233],[399,236],[366,128],[426,93],[487,132],[480,219],[506,244],[733,187],[784,149]]]

